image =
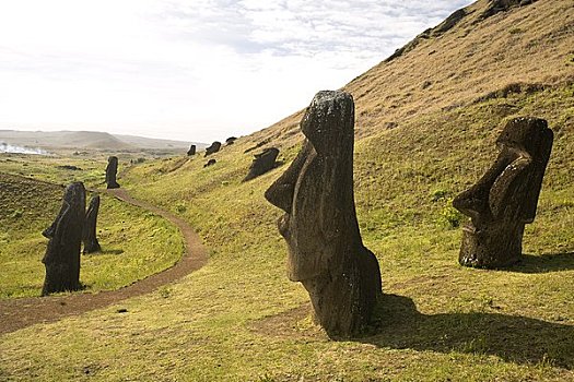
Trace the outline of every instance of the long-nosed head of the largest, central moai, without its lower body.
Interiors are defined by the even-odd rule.
[[[353,124],[351,95],[319,92],[301,121],[303,148],[265,193],[285,212],[279,231],[288,242],[292,280],[318,277],[338,266],[335,255],[341,251],[333,238],[354,234]],[[349,225],[351,229],[342,229]]]

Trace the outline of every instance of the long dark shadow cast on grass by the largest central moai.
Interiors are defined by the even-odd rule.
[[[574,325],[500,313],[423,314],[410,298],[385,295],[362,343],[395,349],[493,355],[574,369]]]

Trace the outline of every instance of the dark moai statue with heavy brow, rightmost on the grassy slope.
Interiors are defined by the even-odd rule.
[[[461,265],[499,268],[520,260],[524,227],[536,216],[552,141],[543,119],[516,118],[505,126],[496,162],[453,201],[471,218],[462,229]]]

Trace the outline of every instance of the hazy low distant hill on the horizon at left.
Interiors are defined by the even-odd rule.
[[[198,148],[207,146],[207,144],[197,142],[160,140],[134,135],[116,135],[99,131],[0,130],[0,143],[48,151],[70,148],[96,151],[187,151],[191,144],[196,144]]]

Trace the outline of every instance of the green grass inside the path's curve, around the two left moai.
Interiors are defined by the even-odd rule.
[[[0,174],[0,298],[39,296],[48,241],[40,232],[57,215],[63,189],[5,174]],[[103,251],[81,260],[85,291],[132,284],[172,266],[183,254],[177,228],[106,194],[97,237]]]

